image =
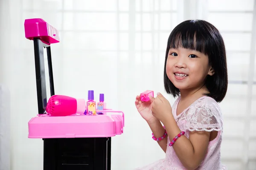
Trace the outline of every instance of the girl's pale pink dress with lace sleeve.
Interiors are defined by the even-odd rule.
[[[227,170],[227,167],[221,164],[223,121],[218,103],[210,97],[203,96],[177,116],[176,110],[179,101],[180,97],[175,101],[172,113],[180,130],[186,132],[187,138],[189,138],[189,131],[218,131],[217,137],[209,142],[207,154],[196,170]],[[168,146],[165,159],[160,159],[136,170],[186,170],[186,168],[183,167],[173,147]]]

